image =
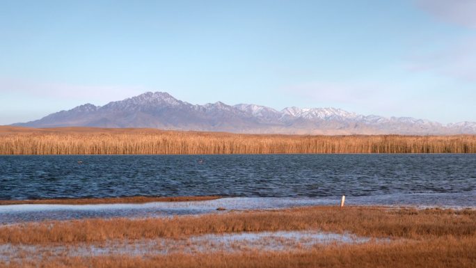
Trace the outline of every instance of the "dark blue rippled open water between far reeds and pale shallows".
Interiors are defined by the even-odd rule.
[[[461,194],[476,155],[0,156],[0,186],[5,200]]]

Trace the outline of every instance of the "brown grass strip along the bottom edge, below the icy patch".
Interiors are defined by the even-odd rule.
[[[150,258],[111,255],[102,257],[42,258],[3,267],[78,268],[474,268],[476,240],[440,237],[425,242],[394,242],[317,247],[303,252],[199,253],[159,255]],[[0,262],[1,265],[1,262]]]

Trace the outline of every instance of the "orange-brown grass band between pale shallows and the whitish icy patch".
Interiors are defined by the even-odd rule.
[[[352,232],[366,237],[476,239],[475,210],[386,207],[301,207],[166,219],[86,219],[0,226],[0,244],[77,244],[113,239],[183,238],[190,235],[276,230]]]

